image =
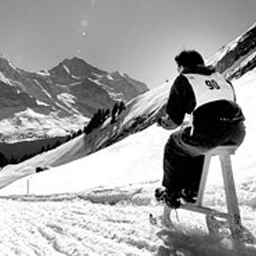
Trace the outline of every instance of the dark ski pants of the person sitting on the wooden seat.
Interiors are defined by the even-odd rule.
[[[245,137],[242,121],[218,125],[218,129],[190,135],[191,127],[174,131],[169,137],[164,152],[163,186],[167,190],[182,189],[198,191],[204,163],[204,153],[221,145],[240,146]]]

